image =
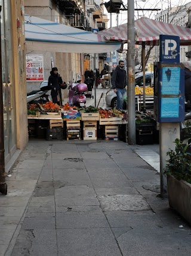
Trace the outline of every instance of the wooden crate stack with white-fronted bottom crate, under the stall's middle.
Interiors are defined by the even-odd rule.
[[[100,113],[81,113],[84,121],[84,140],[97,140],[97,121]]]

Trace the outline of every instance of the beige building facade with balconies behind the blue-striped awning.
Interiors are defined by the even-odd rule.
[[[93,28],[98,28],[98,26],[99,30],[105,28],[100,3],[100,0],[25,0],[24,7],[25,13],[30,16],[92,31]],[[43,55],[44,80],[48,80],[53,66],[58,68],[58,73],[65,82],[83,80],[85,68],[93,68],[94,56],[89,53],[85,55],[82,53],[59,53],[55,52],[54,49],[53,52],[32,52],[26,43],[26,57],[27,55]],[[39,89],[39,85],[40,82],[27,82],[27,92]],[[63,97],[66,98],[67,90],[62,90],[62,93]]]

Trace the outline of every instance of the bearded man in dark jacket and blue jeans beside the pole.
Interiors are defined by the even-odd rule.
[[[124,104],[125,86],[127,86],[127,73],[124,61],[119,61],[119,65],[112,74],[112,89],[117,95],[116,109],[122,109]]]

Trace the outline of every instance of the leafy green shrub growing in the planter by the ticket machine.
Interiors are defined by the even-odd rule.
[[[191,153],[187,152],[190,144],[183,144],[176,138],[175,150],[167,152],[169,159],[165,168],[165,175],[172,175],[175,179],[182,179],[191,183]]]

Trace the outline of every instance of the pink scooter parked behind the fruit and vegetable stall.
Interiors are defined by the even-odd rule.
[[[86,103],[84,92],[87,91],[88,86],[85,83],[72,83],[69,86],[69,106],[84,107]]]

